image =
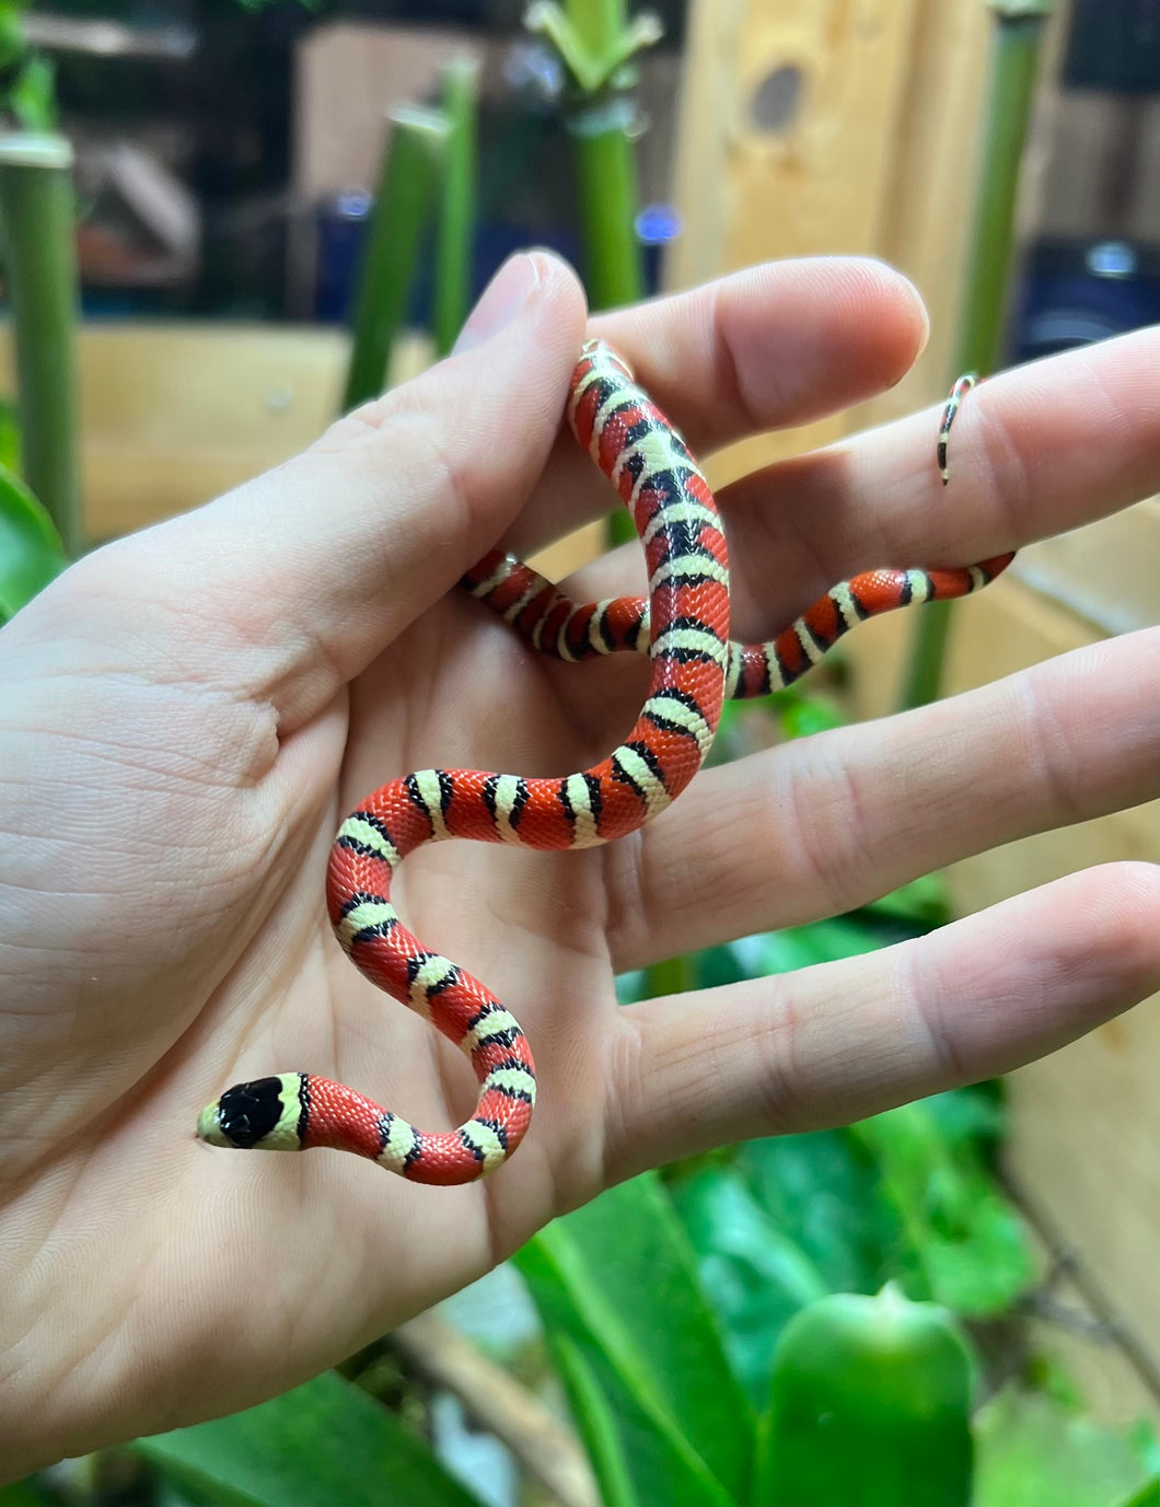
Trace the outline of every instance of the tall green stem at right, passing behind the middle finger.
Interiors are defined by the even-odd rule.
[[[991,0],[990,86],[979,161],[979,193],[967,256],[954,375],[993,372],[1002,351],[1014,255],[1015,202],[1027,139],[1035,74],[1050,5],[1047,0]],[[902,708],[936,701],[951,633],[949,601],[923,607],[911,639]]]

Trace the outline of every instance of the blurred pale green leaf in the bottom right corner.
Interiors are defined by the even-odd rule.
[[[1154,1466],[1124,1433],[1015,1385],[979,1409],[975,1444],[978,1507],[1119,1507],[1130,1493],[1155,1492]]]

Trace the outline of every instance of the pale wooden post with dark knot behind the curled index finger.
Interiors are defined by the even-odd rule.
[[[899,199],[917,216],[930,190],[899,170],[916,113],[936,131],[934,152],[943,137],[969,134],[978,109],[982,24],[978,41],[966,24],[951,29],[960,42],[951,90],[926,87],[916,44],[933,29],[931,11],[976,9],[961,0],[693,0],[673,185],[684,234],[666,268],[670,286],[786,256],[883,256]],[[961,219],[942,220],[948,247],[961,240]],[[945,285],[937,280],[936,294]],[[848,428],[839,414],[744,442],[717,458],[713,479]]]

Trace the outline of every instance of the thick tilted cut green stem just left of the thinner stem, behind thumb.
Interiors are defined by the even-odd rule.
[[[390,350],[407,313],[449,130],[435,110],[399,109],[389,116],[378,194],[359,274],[343,411],[377,398],[387,380]]]

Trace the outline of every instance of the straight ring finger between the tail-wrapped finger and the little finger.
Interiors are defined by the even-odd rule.
[[[618,971],[866,904],[1155,794],[1160,630],[702,772],[606,854]],[[1109,735],[1109,729],[1115,729]]]

